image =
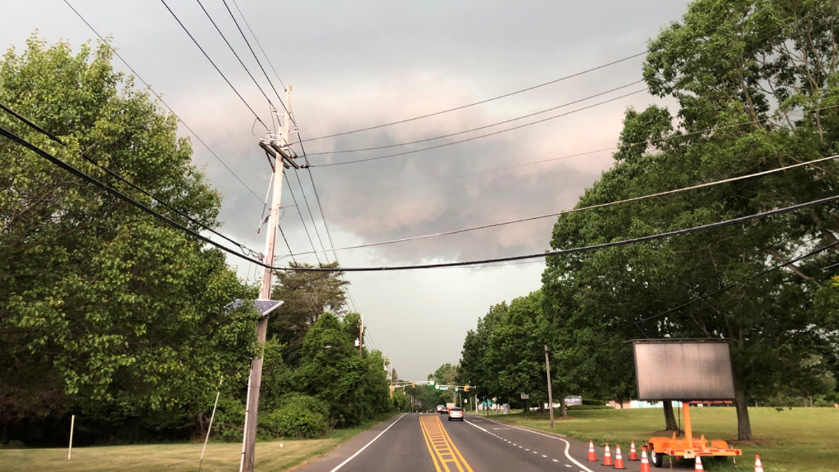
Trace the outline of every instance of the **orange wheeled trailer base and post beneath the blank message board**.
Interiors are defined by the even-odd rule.
[[[678,438],[676,433],[673,433],[672,438],[666,438],[664,436],[649,438],[649,443],[647,444],[649,459],[655,467],[661,467],[664,464],[664,456],[671,456],[678,459],[693,459],[696,456],[735,457],[743,455],[741,449],[729,448],[728,443],[722,439],[712,439],[709,441],[705,438],[704,434],[698,439],[694,438],[693,428],[690,424],[690,404],[688,402],[682,402],[682,412],[684,412],[685,416],[684,438]]]

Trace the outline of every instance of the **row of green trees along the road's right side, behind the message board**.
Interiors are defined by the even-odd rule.
[[[836,13],[698,0],[649,42],[644,80],[677,111],[627,111],[612,168],[555,223],[551,248],[575,250],[467,333],[480,396],[545,401],[547,346],[555,399],[627,400],[628,340],[726,338],[740,439],[756,402],[839,401]]]

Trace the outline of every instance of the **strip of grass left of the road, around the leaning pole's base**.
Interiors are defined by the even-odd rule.
[[[305,464],[384,419],[387,417],[379,417],[359,427],[336,430],[326,438],[258,442],[254,469],[288,470]],[[66,448],[0,449],[0,470],[194,471],[198,470],[203,446],[203,443],[185,443],[73,448],[70,460],[67,459]],[[238,470],[241,454],[242,443],[208,443],[201,470]]]

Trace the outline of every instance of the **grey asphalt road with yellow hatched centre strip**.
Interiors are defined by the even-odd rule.
[[[569,470],[613,471],[602,463],[587,462],[588,443],[539,433],[466,415],[464,422],[449,422],[446,415],[405,414],[357,435],[340,448],[297,469],[301,472],[478,472]],[[638,462],[628,461],[628,471]],[[614,451],[612,450],[612,456]]]

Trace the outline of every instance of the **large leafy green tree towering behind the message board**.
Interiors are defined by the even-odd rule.
[[[691,3],[682,22],[651,41],[644,65],[650,90],[679,102],[678,121],[660,108],[630,110],[614,168],[579,206],[835,154],[836,41],[826,18],[836,18],[837,7],[830,1]],[[830,161],[567,215],[551,244],[608,243],[808,202],[836,194],[837,170]],[[570,300],[567,307],[556,303],[562,315],[578,311],[618,338],[730,339],[737,435],[749,439],[750,400],[809,390],[818,384],[815,373],[827,367],[825,356],[813,354],[829,349],[825,333],[835,331],[836,320],[818,309],[814,294],[824,290],[830,274],[823,268],[836,249],[795,259],[836,243],[835,233],[836,205],[829,204],[549,258],[545,294],[565,292],[558,300]],[[781,264],[784,270],[771,270]]]

